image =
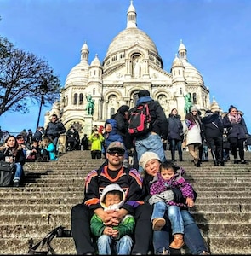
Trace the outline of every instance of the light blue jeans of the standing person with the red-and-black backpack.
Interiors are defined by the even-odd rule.
[[[135,141],[135,149],[137,151],[138,161],[140,157],[147,151],[154,152],[163,162],[166,160],[166,154],[163,148],[163,142],[158,134],[151,134],[151,132],[143,138],[137,138]],[[139,166],[139,172],[143,172],[143,168]]]

